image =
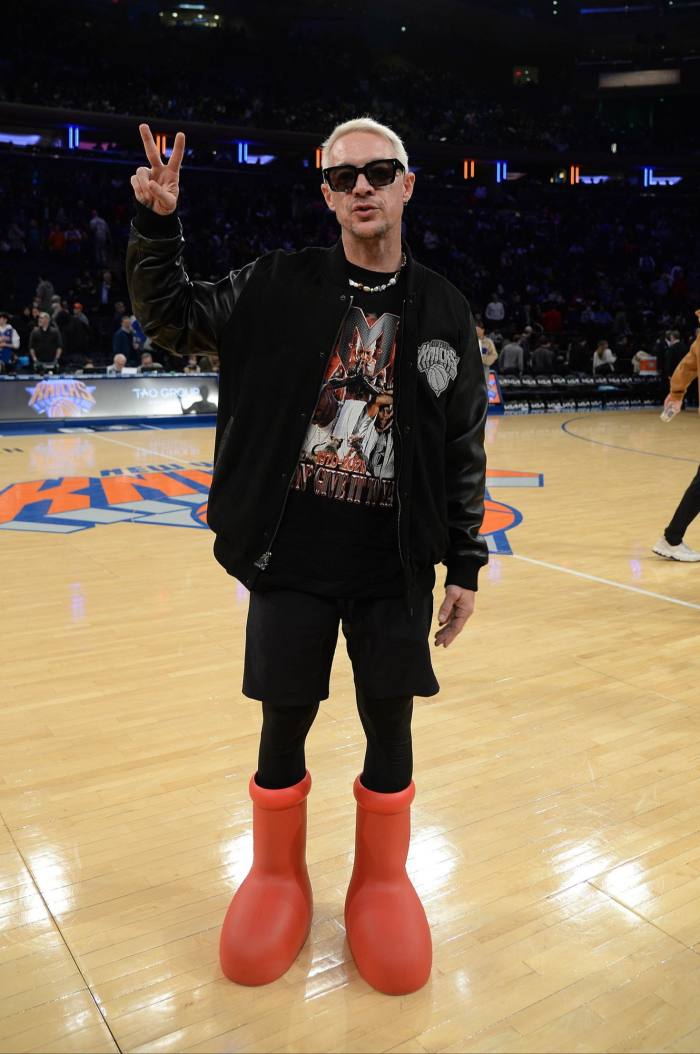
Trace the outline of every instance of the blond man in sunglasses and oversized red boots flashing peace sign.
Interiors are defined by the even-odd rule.
[[[349,121],[324,143],[335,247],[267,253],[217,282],[184,271],[184,136],[166,165],[149,126],[140,132],[150,168],[132,176],[129,293],[160,347],[220,355],[208,521],[217,560],[251,591],[242,690],[262,703],[249,783],[253,865],[223,922],[221,965],[239,983],[268,983],[309,934],[304,744],[328,698],[342,621],[367,736],[353,784],[348,941],[370,984],[413,992],[432,957],[405,864],[413,697],[440,689],[429,648],[434,565],[447,566],[435,635],[447,647],[472,613],[488,559],[479,533],[487,399],[473,317],[402,243],[415,176],[385,125]],[[370,416],[378,427],[368,458]],[[391,450],[383,438],[377,452],[389,417]]]

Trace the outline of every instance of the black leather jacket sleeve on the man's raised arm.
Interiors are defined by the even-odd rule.
[[[140,203],[127,246],[132,310],[159,347],[178,354],[218,352],[218,338],[253,264],[218,281],[192,281],[184,270],[182,223]]]

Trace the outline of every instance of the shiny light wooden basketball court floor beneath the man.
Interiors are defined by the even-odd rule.
[[[157,503],[1,531],[0,1052],[700,1050],[700,565],[649,551],[698,428],[489,423],[491,496],[523,519],[415,701],[408,866],[434,960],[406,997],[362,980],[343,928],[364,756],[343,638],[307,748],[311,937],[281,979],[237,987],[217,939],[252,855],[247,591]],[[0,490],[195,479],[212,441],[4,436]]]

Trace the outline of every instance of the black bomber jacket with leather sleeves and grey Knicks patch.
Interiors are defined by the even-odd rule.
[[[127,249],[133,311],[159,346],[219,356],[208,523],[214,554],[254,588],[270,560],[326,364],[352,305],[343,242],[276,250],[219,281],[192,281],[177,215],[137,203]],[[407,256],[394,376],[397,545],[411,604],[416,574],[477,589],[484,515],[486,382],[467,300]]]

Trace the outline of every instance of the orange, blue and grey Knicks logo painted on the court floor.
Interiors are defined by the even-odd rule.
[[[99,475],[12,483],[0,490],[0,530],[72,534],[132,522],[160,527],[207,527],[211,462],[103,469]],[[487,471],[482,533],[490,552],[511,552],[508,531],[522,521],[518,509],[495,502],[500,487],[542,487],[538,472]]]

